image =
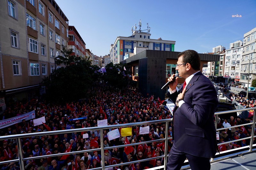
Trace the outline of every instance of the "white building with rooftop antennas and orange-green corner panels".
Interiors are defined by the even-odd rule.
[[[110,60],[113,63],[121,61],[136,55],[145,50],[156,51],[174,51],[175,41],[151,39],[148,32],[134,31],[129,37],[117,37],[114,44],[110,45]]]

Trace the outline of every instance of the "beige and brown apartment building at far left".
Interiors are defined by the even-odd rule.
[[[54,0],[3,0],[0,5],[0,98],[6,104],[39,95],[40,81],[67,46],[68,18]],[[61,65],[58,65],[61,67]]]

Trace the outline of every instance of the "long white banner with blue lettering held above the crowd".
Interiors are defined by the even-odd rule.
[[[4,119],[4,120],[0,121],[0,129],[11,126],[16,123],[20,123],[20,122],[22,122],[23,119],[25,119],[27,121],[27,120],[34,119],[34,118],[35,118],[35,110],[25,113],[23,115],[12,117],[10,119]]]

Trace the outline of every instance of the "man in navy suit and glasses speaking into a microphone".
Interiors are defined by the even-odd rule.
[[[180,77],[185,78],[184,87],[176,90],[178,77],[168,79],[167,96],[176,104],[173,110],[174,143],[169,153],[167,169],[180,169],[188,159],[192,170],[208,170],[214,158],[217,142],[213,122],[218,99],[212,82],[200,72],[200,57],[194,50],[178,55],[176,65]]]

